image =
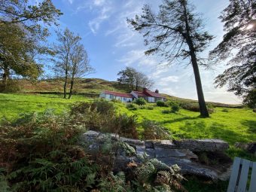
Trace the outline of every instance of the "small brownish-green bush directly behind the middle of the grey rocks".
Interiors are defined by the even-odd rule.
[[[142,122],[143,139],[171,139],[171,133],[164,126],[152,120]]]

